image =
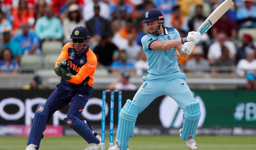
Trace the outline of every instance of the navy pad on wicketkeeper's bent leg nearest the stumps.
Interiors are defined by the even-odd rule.
[[[92,129],[82,120],[75,116],[69,116],[64,118],[65,123],[74,129],[83,139],[88,143],[99,144],[100,140],[97,139],[95,134],[92,133]]]

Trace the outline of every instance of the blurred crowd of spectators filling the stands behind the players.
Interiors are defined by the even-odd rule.
[[[90,48],[98,67],[109,74],[146,74],[142,50],[142,16],[149,8],[164,13],[164,26],[181,37],[197,30],[222,0],[0,0],[0,73],[22,73],[21,58],[39,55],[43,67],[44,42],[70,42],[76,26],[92,35]],[[256,1],[236,0],[203,35],[191,56],[178,62],[192,74],[230,73],[245,76],[255,88]],[[59,50],[60,52],[60,50]],[[250,83],[250,84],[249,84]]]

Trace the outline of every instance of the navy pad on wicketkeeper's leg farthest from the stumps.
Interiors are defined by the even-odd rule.
[[[35,144],[39,149],[41,139],[43,137],[43,132],[46,129],[48,120],[49,108],[45,104],[40,104],[36,108],[35,116],[33,117],[33,123],[31,126],[31,132],[28,137],[28,144]]]

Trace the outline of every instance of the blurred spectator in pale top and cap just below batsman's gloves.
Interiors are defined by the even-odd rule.
[[[202,74],[204,72],[209,72],[210,65],[208,60],[203,57],[203,47],[196,46],[195,50],[186,62],[185,69],[188,73]]]

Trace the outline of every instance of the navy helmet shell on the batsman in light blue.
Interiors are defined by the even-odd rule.
[[[159,21],[162,20],[164,23],[164,15],[158,9],[151,8],[148,11],[145,11],[143,15],[142,23],[149,23],[151,21],[156,21],[156,20],[159,20]]]

